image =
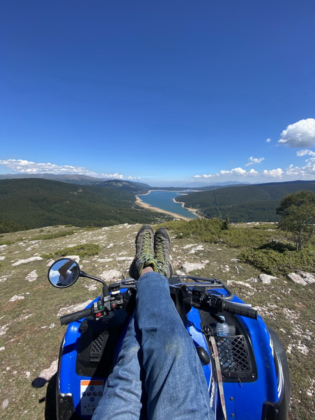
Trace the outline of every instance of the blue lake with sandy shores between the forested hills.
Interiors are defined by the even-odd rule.
[[[170,211],[171,213],[179,214],[187,218],[197,218],[195,214],[186,208],[182,207],[181,203],[174,202],[173,198],[182,195],[182,193],[193,192],[192,190],[186,191],[161,191],[154,190],[148,194],[137,195],[137,197],[150,207],[156,207],[161,210]]]

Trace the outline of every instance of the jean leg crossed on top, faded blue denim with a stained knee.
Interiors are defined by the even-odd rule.
[[[163,275],[137,281],[136,319],[147,392],[147,419],[214,420],[203,369]]]

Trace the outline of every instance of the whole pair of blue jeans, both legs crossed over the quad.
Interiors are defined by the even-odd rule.
[[[154,271],[136,284],[136,309],[92,420],[214,420],[192,339]]]

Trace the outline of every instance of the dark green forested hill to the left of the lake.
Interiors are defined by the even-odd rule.
[[[134,200],[131,192],[103,186],[38,178],[2,179],[0,224],[21,230],[24,226],[111,226],[169,218],[137,206]]]

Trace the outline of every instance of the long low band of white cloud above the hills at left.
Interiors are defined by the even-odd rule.
[[[18,173],[54,173],[66,174],[76,173],[80,175],[96,176],[99,178],[118,178],[118,179],[140,179],[135,176],[123,176],[118,173],[96,173],[86,169],[84,166],[71,166],[71,165],[56,165],[54,163],[35,163],[22,159],[8,159],[0,160],[0,164],[8,169]]]

